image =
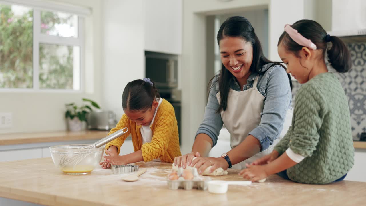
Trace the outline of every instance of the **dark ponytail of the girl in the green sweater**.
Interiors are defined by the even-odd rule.
[[[332,47],[326,52],[328,62],[336,71],[340,73],[347,72],[352,67],[351,55],[347,46],[336,36],[330,36],[330,42]]]

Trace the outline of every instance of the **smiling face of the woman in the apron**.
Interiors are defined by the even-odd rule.
[[[224,37],[220,40],[223,65],[238,80],[249,73],[253,61],[253,47],[241,37]]]

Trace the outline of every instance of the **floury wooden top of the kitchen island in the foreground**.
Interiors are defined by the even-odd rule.
[[[139,162],[147,172],[136,182],[97,168],[71,176],[57,169],[51,158],[0,163],[0,196],[42,205],[363,205],[366,183],[341,181],[327,185],[293,183],[277,175],[265,183],[229,185],[226,194],[201,190],[169,190],[171,163]],[[238,170],[214,180],[243,180]]]

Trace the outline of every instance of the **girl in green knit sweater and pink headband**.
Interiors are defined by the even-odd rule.
[[[327,51],[327,43],[332,46]],[[285,25],[277,51],[287,73],[303,84],[295,99],[291,127],[273,152],[246,165],[239,174],[258,181],[271,174],[307,184],[343,180],[354,163],[347,98],[337,77],[328,72],[325,52],[341,73],[351,68],[350,53],[336,36],[315,21]]]

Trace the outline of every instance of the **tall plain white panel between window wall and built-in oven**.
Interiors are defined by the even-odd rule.
[[[123,114],[126,84],[145,76],[142,0],[104,0],[102,3],[102,104]]]

